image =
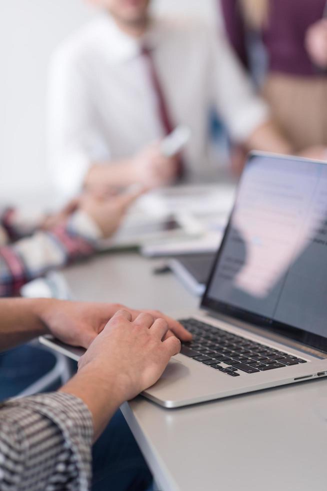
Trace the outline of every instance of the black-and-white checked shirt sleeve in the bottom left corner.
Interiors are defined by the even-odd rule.
[[[65,393],[0,405],[1,491],[87,491],[91,480],[92,417]]]

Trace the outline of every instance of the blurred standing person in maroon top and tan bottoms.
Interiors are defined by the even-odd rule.
[[[253,38],[263,45],[260,90],[280,131],[295,150],[316,145],[321,158],[327,145],[326,0],[220,2],[229,41],[249,72]]]

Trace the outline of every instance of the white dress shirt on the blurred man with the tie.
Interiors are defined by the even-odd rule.
[[[164,136],[141,43],[152,50],[173,123],[191,129],[184,152],[187,180],[214,176],[207,151],[210,108],[238,142],[267,120],[265,104],[211,27],[155,18],[140,42],[104,15],[65,41],[51,62],[50,164],[65,194],[78,192],[92,163],[130,157]]]

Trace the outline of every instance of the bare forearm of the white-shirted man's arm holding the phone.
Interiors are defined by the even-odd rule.
[[[137,175],[131,159],[94,163],[89,168],[84,185],[86,188],[125,187],[137,182]]]

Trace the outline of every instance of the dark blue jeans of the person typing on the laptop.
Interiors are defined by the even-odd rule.
[[[36,382],[54,363],[55,357],[37,346],[24,345],[0,353],[0,401]],[[76,366],[72,363],[72,370]],[[93,491],[145,491],[151,486],[150,471],[120,411],[93,445],[92,458]]]

